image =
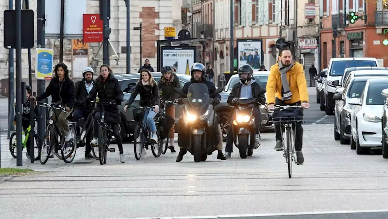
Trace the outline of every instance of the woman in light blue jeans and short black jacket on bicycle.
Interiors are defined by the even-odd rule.
[[[154,143],[158,143],[158,136],[156,135],[156,125],[154,117],[159,112],[159,90],[158,83],[156,83],[154,78],[152,78],[151,72],[148,69],[141,70],[139,82],[136,84],[135,89],[132,91],[131,97],[125,103],[124,112],[128,110],[128,106],[132,104],[137,94],[140,94],[139,105],[141,107],[153,107],[147,109],[147,111],[144,112],[143,124],[147,124],[147,127],[151,129],[151,141],[153,141]],[[135,139],[134,141],[137,141],[137,139]]]

